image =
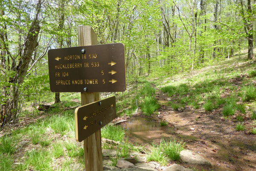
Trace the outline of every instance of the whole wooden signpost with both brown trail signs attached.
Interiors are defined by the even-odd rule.
[[[126,89],[124,45],[97,43],[90,26],[79,26],[79,47],[48,51],[51,91],[81,92],[76,140],[84,141],[85,171],[103,171],[100,128],[116,117],[115,97],[100,100],[99,92]]]

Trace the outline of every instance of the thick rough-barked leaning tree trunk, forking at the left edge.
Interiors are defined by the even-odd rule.
[[[38,20],[40,9],[41,0],[38,1],[38,4],[36,6],[34,20],[32,21],[30,29],[26,35],[25,43],[23,45],[23,52],[16,66],[16,61],[14,61],[15,59],[12,58],[13,61],[11,72],[15,72],[16,74],[13,77],[9,78],[9,84],[6,87],[2,87],[2,92],[5,93],[6,98],[6,102],[4,104],[1,104],[0,106],[0,114],[4,118],[3,124],[10,121],[17,121],[18,113],[20,110],[20,107],[18,106],[20,101],[19,87],[23,83],[24,78],[26,76],[26,72],[29,68],[29,63],[32,59],[33,52],[35,51],[35,48],[38,46],[38,33],[41,28],[39,25],[40,21]],[[4,43],[5,37],[1,35],[0,38],[1,41]],[[8,52],[9,47],[6,45],[4,47],[4,49]],[[11,56],[10,53],[8,53],[8,55]]]

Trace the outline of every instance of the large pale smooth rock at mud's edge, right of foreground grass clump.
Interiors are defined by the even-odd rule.
[[[206,159],[204,159],[203,157],[199,156],[198,154],[191,150],[180,151],[180,159],[184,163],[212,167],[212,164],[209,161],[207,161]]]

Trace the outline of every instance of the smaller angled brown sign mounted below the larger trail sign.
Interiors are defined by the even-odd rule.
[[[76,141],[83,141],[116,117],[116,97],[95,101],[75,110]]]

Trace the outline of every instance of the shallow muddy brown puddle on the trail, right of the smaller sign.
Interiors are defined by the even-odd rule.
[[[161,126],[154,117],[137,116],[120,124],[126,129],[129,140],[138,144],[159,143],[162,138],[170,139],[174,128]]]

